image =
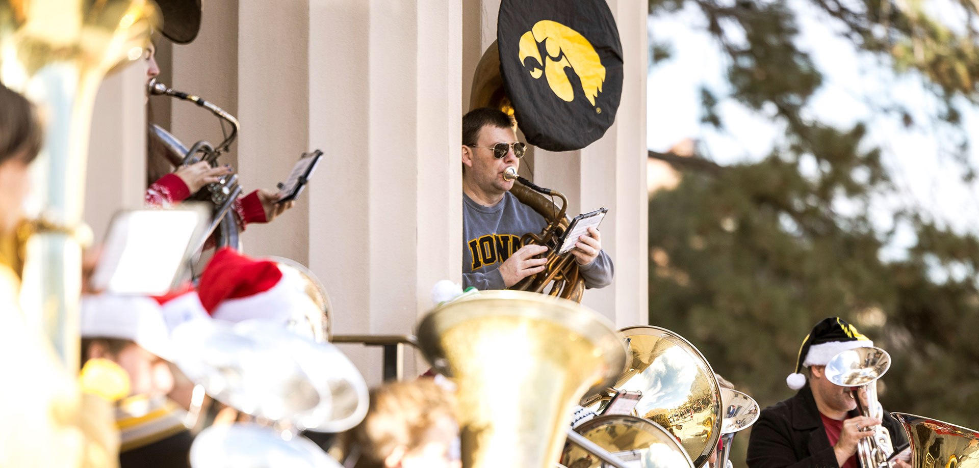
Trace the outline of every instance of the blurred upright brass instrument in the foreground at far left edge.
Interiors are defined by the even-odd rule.
[[[0,2],[0,81],[44,116],[33,163],[36,231],[25,246],[21,302],[68,368],[78,368],[85,167],[102,78],[142,56],[159,12],[149,0]]]

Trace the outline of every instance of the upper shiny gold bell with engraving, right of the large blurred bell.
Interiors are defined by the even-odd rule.
[[[723,420],[721,388],[711,364],[690,342],[666,328],[627,326],[619,335],[628,343],[631,363],[612,393],[640,392],[633,414],[666,429],[689,454],[693,466],[704,466],[721,438]],[[606,391],[582,405],[601,413],[610,400]]]

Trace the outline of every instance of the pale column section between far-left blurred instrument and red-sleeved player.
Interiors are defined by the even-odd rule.
[[[140,208],[146,191],[146,64],[106,78],[92,112],[85,224],[101,243],[115,212]]]

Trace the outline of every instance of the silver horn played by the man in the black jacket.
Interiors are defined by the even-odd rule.
[[[891,366],[891,356],[880,348],[865,347],[844,351],[826,364],[826,378],[841,387],[850,387],[861,415],[882,419],[884,408],[877,402],[877,379]],[[890,468],[887,458],[894,452],[891,432],[882,425],[865,428],[874,431],[857,443],[862,468]]]

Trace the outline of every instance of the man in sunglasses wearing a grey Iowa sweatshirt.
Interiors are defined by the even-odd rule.
[[[509,193],[515,181],[503,174],[520,167],[526,146],[517,142],[510,117],[480,107],[462,117],[462,287],[505,289],[544,270],[542,245],[521,245],[520,236],[540,233],[547,222]],[[612,259],[594,228],[572,250],[585,287],[612,282]]]

